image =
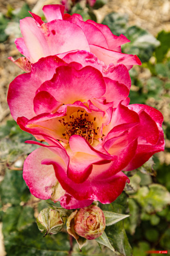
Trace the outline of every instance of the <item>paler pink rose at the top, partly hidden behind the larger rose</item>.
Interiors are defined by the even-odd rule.
[[[136,55],[121,53],[121,45],[130,42],[124,35],[114,35],[111,30],[92,20],[83,21],[80,14],[64,14],[63,5],[45,5],[43,12],[47,19],[31,13],[33,17],[20,20],[22,38],[15,40],[21,57],[14,61],[24,71],[29,72],[31,63],[41,57],[58,55],[64,57],[69,52],[85,50],[95,54],[106,65],[124,64],[128,69],[141,62]],[[30,63],[31,62],[31,63]]]

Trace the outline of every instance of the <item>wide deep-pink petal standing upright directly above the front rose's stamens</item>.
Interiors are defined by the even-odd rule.
[[[95,90],[92,84],[95,85]],[[57,101],[67,104],[100,98],[105,93],[105,83],[100,71],[93,67],[76,70],[74,67],[61,66],[56,69],[50,81],[39,87],[38,91],[41,90],[48,91]]]

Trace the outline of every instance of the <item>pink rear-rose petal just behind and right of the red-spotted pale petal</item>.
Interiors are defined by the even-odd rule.
[[[81,21],[74,14],[71,15],[67,20],[71,23],[78,25],[83,30],[89,44],[98,44],[100,42],[100,45],[102,47],[108,48],[108,44],[106,42],[104,35],[96,26]]]

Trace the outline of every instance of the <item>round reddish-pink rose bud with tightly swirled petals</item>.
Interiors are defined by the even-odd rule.
[[[93,204],[73,212],[67,222],[68,233],[73,237],[76,234],[89,240],[100,237],[106,226],[102,210]],[[75,233],[72,232],[72,226]]]

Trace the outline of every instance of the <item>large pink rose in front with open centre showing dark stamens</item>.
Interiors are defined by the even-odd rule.
[[[130,171],[164,150],[162,114],[129,104],[123,64],[106,66],[87,51],[41,58],[10,84],[8,104],[41,147],[25,160],[31,193],[67,209],[113,202]],[[58,183],[59,182],[59,183]]]

